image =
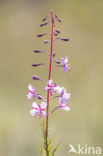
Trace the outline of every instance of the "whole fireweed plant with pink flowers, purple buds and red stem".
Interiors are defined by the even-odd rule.
[[[65,58],[61,58],[61,60],[55,59],[55,53],[53,50],[53,43],[55,40],[61,40],[64,42],[69,41],[68,38],[62,38],[58,37],[59,34],[61,33],[60,30],[58,30],[55,27],[55,20],[58,22],[62,22],[57,15],[55,15],[53,10],[50,10],[50,13],[48,16],[46,16],[42,20],[42,24],[40,24],[40,27],[50,25],[51,27],[51,33],[42,33],[37,35],[37,37],[41,38],[44,37],[45,35],[50,35],[50,53],[48,53],[45,50],[34,50],[33,52],[36,54],[40,53],[45,53],[49,56],[49,65],[45,63],[36,63],[32,64],[33,67],[38,67],[38,66],[47,66],[49,71],[48,71],[48,82],[45,82],[42,78],[34,75],[32,77],[33,80],[38,80],[42,81],[45,83],[44,90],[47,92],[47,97],[45,98],[44,96],[40,95],[39,93],[36,92],[36,88],[33,87],[31,84],[28,86],[28,94],[27,98],[31,101],[32,103],[32,110],[30,111],[30,114],[33,117],[38,116],[39,119],[41,119],[43,116],[43,121],[41,124],[41,129],[42,129],[42,145],[40,147],[40,155],[45,155],[45,156],[54,156],[55,152],[57,151],[59,144],[56,145],[56,147],[53,147],[53,142],[55,141],[56,137],[53,139],[49,140],[48,138],[48,119],[49,115],[51,115],[54,111],[69,111],[70,108],[68,107],[68,100],[71,97],[70,93],[66,92],[66,89],[64,87],[59,86],[57,83],[54,83],[52,78],[51,78],[51,73],[52,70],[55,68],[62,68],[62,71],[64,73],[69,73],[70,71],[70,66],[71,64],[68,64],[68,57],[66,56]],[[47,44],[49,43],[48,40],[44,40],[44,43]],[[52,64],[56,64],[55,66],[52,67]],[[56,96],[54,96],[54,93]],[[54,99],[58,98],[58,104],[53,108],[53,110],[49,109],[49,103],[52,102]],[[51,100],[52,99],[52,100]],[[37,101],[37,102],[36,102]]]

